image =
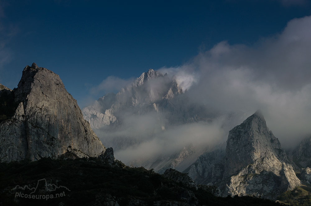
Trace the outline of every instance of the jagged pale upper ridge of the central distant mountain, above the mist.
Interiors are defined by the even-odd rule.
[[[82,112],[91,127],[99,129],[117,124],[123,110],[132,113],[159,112],[158,105],[182,93],[174,78],[149,69],[117,94],[104,95],[93,105],[83,108]]]

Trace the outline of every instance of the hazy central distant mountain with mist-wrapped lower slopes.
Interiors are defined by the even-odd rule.
[[[117,157],[128,148],[135,149],[146,142],[157,141],[159,136],[166,144],[174,143],[167,140],[170,134],[166,133],[174,133],[175,127],[188,126],[188,131],[194,131],[197,129],[192,128],[195,123],[205,127],[205,124],[212,124],[221,117],[225,119],[221,129],[229,131],[235,122],[241,121],[240,114],[210,111],[205,105],[190,101],[186,94],[174,76],[149,69],[117,94],[106,94],[83,108],[82,113],[103,144],[115,149]],[[196,134],[190,132],[189,135]],[[201,136],[205,138],[204,134]],[[191,136],[187,138],[189,140],[177,148],[165,149],[164,153],[160,151],[152,157],[140,156],[125,163],[154,168],[160,173],[167,168],[183,171],[214,146],[210,143],[197,145],[196,140],[191,141]],[[182,140],[176,138],[174,141]]]

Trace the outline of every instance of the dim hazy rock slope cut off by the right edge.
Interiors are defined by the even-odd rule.
[[[299,167],[311,167],[311,137],[302,140],[293,151],[293,161]]]

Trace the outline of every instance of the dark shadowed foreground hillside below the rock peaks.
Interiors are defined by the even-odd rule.
[[[0,164],[0,205],[280,205],[253,197],[221,198],[144,168],[91,158]]]

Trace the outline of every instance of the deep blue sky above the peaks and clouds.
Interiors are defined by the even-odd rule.
[[[221,41],[256,47],[308,15],[304,0],[0,1],[0,83],[17,87],[36,62],[83,107],[109,76],[176,67]]]

